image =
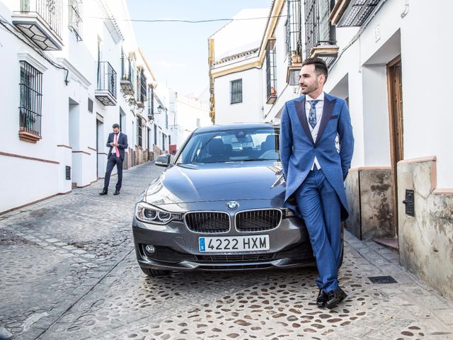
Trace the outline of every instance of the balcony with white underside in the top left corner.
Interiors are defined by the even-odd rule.
[[[62,0],[21,0],[11,19],[41,50],[62,50]]]

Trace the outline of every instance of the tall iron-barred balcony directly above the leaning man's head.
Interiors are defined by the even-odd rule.
[[[305,2],[305,54],[321,57],[330,66],[338,56],[335,26],[328,21],[331,13],[330,0]]]

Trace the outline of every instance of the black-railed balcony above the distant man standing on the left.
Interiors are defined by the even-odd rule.
[[[116,72],[110,62],[98,63],[98,88],[94,95],[103,106],[115,106],[116,101]]]

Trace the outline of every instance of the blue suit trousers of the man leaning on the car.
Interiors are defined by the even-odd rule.
[[[316,285],[324,292],[336,290],[341,256],[340,198],[322,169],[309,171],[295,192],[304,217],[318,267]]]

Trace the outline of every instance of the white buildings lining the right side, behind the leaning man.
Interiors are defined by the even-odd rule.
[[[453,66],[445,56],[452,12],[449,0],[276,0],[257,55],[221,74],[239,79],[261,69],[263,120],[278,122],[285,101],[299,96],[302,60],[326,60],[325,91],[346,99],[355,135],[346,227],[399,249],[404,266],[449,297]],[[219,112],[219,98],[229,96],[218,77],[212,69],[216,121],[228,114]]]

